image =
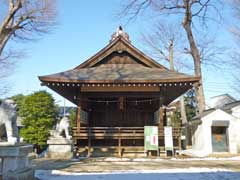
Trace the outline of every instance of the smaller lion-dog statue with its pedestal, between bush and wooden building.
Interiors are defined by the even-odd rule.
[[[50,131],[50,138],[47,141],[48,150],[46,157],[56,159],[70,159],[72,152],[72,137],[69,135],[70,119],[64,116],[56,125],[55,130]]]

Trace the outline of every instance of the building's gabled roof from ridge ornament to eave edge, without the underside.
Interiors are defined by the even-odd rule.
[[[192,82],[199,77],[170,71],[134,47],[122,29],[109,44],[72,70],[40,76],[44,82]]]

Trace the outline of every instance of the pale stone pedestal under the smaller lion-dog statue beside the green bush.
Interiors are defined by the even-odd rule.
[[[50,137],[47,144],[46,157],[53,159],[71,159],[73,157],[72,140],[64,137]]]

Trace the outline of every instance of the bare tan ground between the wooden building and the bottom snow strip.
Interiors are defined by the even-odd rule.
[[[36,170],[62,170],[76,173],[139,171],[181,168],[220,168],[240,172],[239,158],[225,159],[106,159],[92,158],[81,160],[36,159],[33,168]]]

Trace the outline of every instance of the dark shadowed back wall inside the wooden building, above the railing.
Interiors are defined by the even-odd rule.
[[[92,127],[143,127],[154,125],[154,109],[141,104],[118,103],[95,106],[89,113],[89,125]]]

